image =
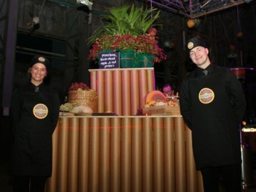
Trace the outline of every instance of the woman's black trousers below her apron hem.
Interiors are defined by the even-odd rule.
[[[44,192],[44,176],[14,176],[13,192]]]

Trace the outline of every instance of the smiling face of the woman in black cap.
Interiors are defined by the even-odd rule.
[[[36,63],[31,67],[31,82],[34,85],[39,85],[43,82],[47,75],[46,66],[41,63]]]

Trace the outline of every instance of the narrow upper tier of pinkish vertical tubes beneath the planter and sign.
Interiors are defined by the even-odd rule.
[[[155,90],[154,68],[89,71],[90,86],[98,93],[98,112],[135,115],[144,106],[146,94]]]

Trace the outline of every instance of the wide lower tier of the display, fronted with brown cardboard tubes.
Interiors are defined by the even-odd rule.
[[[181,116],[63,116],[46,192],[203,192]]]

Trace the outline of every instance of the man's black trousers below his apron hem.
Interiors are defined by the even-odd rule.
[[[220,181],[226,192],[241,192],[241,164],[201,169],[204,192],[219,192]]]

